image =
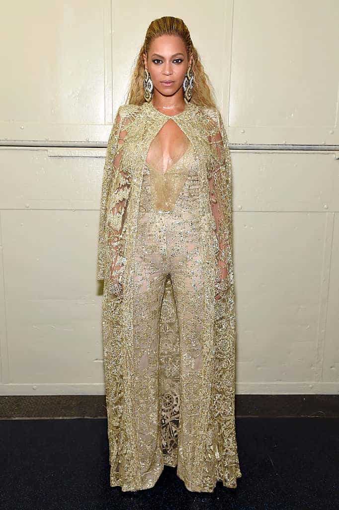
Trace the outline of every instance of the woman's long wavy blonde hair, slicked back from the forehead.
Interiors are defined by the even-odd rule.
[[[145,41],[140,48],[139,54],[135,59],[134,69],[132,70],[130,84],[127,92],[127,100],[125,104],[128,105],[142,105],[145,103],[144,97],[144,58],[143,53],[149,53],[150,44],[156,37],[164,34],[174,34],[184,41],[188,58],[192,56],[192,72],[193,72],[193,90],[191,103],[198,106],[206,106],[208,108],[216,108],[215,92],[207,74],[204,71],[204,66],[201,62],[199,53],[194,47],[188,28],[180,18],[173,16],[163,16],[162,18],[154,19],[146,32]]]

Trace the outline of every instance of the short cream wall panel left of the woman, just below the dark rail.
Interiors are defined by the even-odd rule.
[[[105,149],[0,148],[1,209],[98,209]]]

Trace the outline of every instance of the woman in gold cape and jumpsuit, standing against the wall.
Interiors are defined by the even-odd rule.
[[[152,21],[112,126],[98,279],[110,485],[241,476],[234,420],[231,159],[185,23]]]

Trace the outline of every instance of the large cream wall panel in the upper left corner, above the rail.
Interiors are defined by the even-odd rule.
[[[6,3],[0,23],[0,139],[107,141],[110,1]]]

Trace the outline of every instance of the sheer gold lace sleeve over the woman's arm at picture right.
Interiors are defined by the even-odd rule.
[[[213,164],[208,169],[208,182],[219,243],[217,260],[220,278],[217,279],[216,288],[221,295],[222,291],[233,285],[232,167],[228,137],[218,110],[216,114],[217,124],[209,135]]]

